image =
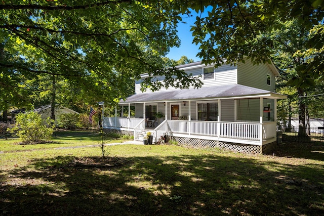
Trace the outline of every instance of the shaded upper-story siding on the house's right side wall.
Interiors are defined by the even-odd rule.
[[[267,85],[267,74],[271,75],[271,85]],[[237,84],[275,92],[275,75],[269,65],[253,65],[250,60],[237,64]]]

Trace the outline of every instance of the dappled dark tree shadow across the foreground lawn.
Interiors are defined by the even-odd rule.
[[[89,166],[75,159],[72,156],[35,159],[26,167],[3,174],[0,212],[4,215],[324,214],[321,165],[295,166],[218,155],[118,158],[126,162],[116,165],[110,160],[105,166]]]

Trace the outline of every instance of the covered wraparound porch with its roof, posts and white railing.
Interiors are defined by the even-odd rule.
[[[105,127],[132,131],[134,139],[140,139],[150,120],[155,140],[166,135],[191,146],[264,153],[264,147],[276,144],[276,102],[285,98],[238,84],[142,93],[120,101],[120,106],[128,106],[128,118],[116,115],[105,120]]]

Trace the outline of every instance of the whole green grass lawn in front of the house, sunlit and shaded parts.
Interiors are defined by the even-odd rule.
[[[282,144],[265,156],[115,145],[104,161],[99,147],[57,149],[98,140],[89,132],[52,144],[0,140],[0,214],[324,215],[323,146]]]

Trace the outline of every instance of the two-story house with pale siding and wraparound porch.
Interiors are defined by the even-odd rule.
[[[276,102],[286,99],[275,93],[271,64],[253,65],[250,61],[236,65],[194,62],[177,66],[193,76],[201,75],[200,89],[161,89],[140,91],[121,101],[121,106],[135,106],[135,118],[105,118],[104,128],[134,132],[141,139],[150,130],[157,141],[167,135],[180,144],[195,147],[220,147],[239,152],[269,153],[276,146]],[[147,74],[142,74],[142,78]],[[163,79],[163,77],[157,77]],[[164,118],[156,118],[156,113]]]

